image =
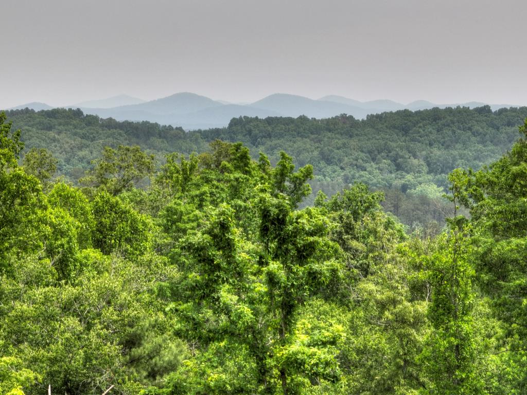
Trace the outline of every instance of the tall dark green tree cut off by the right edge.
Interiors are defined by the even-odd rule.
[[[464,193],[473,226],[473,259],[477,281],[491,298],[495,317],[505,325],[505,340],[496,354],[505,354],[510,376],[525,376],[522,362],[527,343],[525,281],[527,280],[527,120],[511,151],[479,172],[471,173]],[[514,388],[525,388],[515,377]]]

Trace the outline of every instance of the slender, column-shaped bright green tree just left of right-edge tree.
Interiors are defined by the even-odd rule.
[[[461,228],[444,236],[438,251],[424,264],[432,287],[428,319],[433,330],[420,357],[427,381],[423,393],[482,393],[482,383],[475,376],[469,232]]]

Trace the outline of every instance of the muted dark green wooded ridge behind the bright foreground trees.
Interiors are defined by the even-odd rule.
[[[480,169],[499,159],[518,138],[527,107],[494,112],[489,106],[404,110],[368,115],[362,121],[346,115],[324,120],[242,117],[225,128],[188,133],[71,109],[16,110],[7,115],[13,127],[24,131],[26,151],[45,147],[57,159],[58,174],[72,181],[84,176],[105,146],[139,145],[154,154],[159,165],[171,152],[206,152],[216,139],[242,142],[253,159],[264,152],[275,164],[283,150],[297,166],[313,165],[314,191],[333,195],[355,182],[383,190],[385,209],[415,230],[442,227],[452,214],[442,198],[447,174],[456,167]],[[304,204],[314,199],[313,194]]]

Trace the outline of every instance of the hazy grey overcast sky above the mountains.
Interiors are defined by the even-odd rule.
[[[194,92],[527,105],[525,0],[2,0],[0,108]]]

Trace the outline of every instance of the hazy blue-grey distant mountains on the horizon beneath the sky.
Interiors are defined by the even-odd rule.
[[[425,110],[426,108],[480,107],[485,103],[435,104],[424,100],[401,104],[391,100],[360,102],[343,96],[324,96],[313,100],[304,96],[276,93],[250,104],[231,104],[215,101],[206,96],[181,92],[157,100],[143,101],[136,97],[119,95],[103,100],[93,100],[64,106],[81,108],[86,114],[112,117],[118,121],[151,121],[161,124],[182,126],[184,129],[208,129],[228,125],[232,118],[239,116],[292,116],[306,115],[310,118],[328,118],[339,114],[365,118],[368,114],[378,114],[398,110]],[[491,104],[492,110],[502,107],[517,107],[509,104]],[[45,103],[27,103],[9,110],[32,108],[35,111],[53,108]]]

